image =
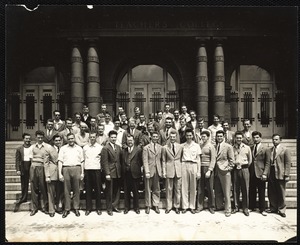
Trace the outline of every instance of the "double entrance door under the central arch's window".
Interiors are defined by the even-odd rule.
[[[149,118],[150,114],[163,109],[165,101],[165,85],[156,82],[132,82],[130,85],[130,108],[129,115],[134,114],[134,107],[138,106],[141,113]]]

